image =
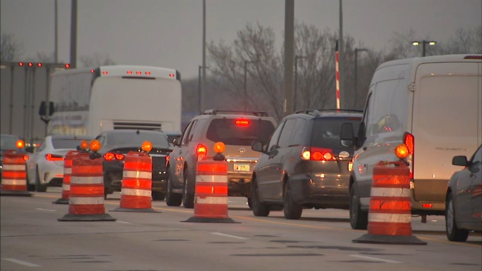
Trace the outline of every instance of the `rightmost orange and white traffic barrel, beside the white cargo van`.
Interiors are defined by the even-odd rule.
[[[427,244],[412,235],[410,169],[404,161],[381,162],[373,169],[368,233],[354,243]]]

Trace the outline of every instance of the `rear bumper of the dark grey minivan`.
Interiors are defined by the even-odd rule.
[[[324,180],[327,183],[325,185],[320,180],[315,181],[314,178],[317,177],[310,175],[290,176],[290,188],[295,203],[320,208],[348,209],[349,176],[342,177],[342,179],[337,176],[325,176]]]

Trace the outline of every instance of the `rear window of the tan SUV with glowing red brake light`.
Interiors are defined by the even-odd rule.
[[[248,121],[247,125],[236,124],[236,121]],[[241,122],[241,124],[244,124]],[[249,146],[255,140],[268,143],[269,136],[274,131],[274,125],[266,120],[253,119],[214,119],[209,124],[206,138],[226,145]]]

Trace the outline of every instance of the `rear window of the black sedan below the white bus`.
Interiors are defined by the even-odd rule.
[[[106,144],[112,145],[131,145],[141,147],[144,141],[150,141],[154,148],[170,148],[167,138],[163,133],[137,135],[135,133],[110,134],[107,136]]]

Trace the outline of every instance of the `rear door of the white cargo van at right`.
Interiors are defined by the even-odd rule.
[[[460,170],[455,155],[478,147],[478,63],[425,63],[415,74],[412,134],[416,201],[445,201],[447,181]]]

